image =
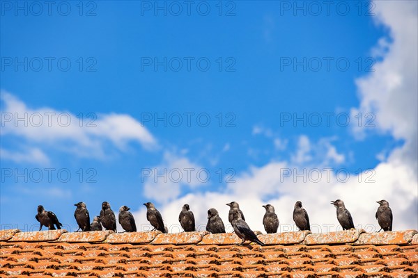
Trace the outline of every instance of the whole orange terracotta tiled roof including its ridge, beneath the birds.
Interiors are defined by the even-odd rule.
[[[260,234],[0,231],[0,276],[418,277],[418,231]]]

